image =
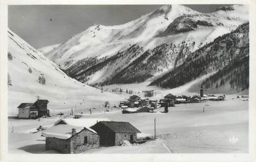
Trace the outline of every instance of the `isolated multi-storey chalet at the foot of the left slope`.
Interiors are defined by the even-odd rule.
[[[49,116],[48,100],[36,100],[34,103],[20,103],[18,118],[36,119]]]

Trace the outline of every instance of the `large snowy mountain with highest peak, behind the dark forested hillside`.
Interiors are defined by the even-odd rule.
[[[123,25],[94,25],[46,56],[82,83],[138,83],[162,75],[218,36],[248,21],[247,6],[203,14],[162,6]]]

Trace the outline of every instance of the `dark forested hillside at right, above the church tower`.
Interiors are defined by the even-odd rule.
[[[249,88],[249,23],[192,52],[184,63],[150,85],[174,88],[209,73],[213,75],[203,81],[205,89],[226,84],[235,91]]]

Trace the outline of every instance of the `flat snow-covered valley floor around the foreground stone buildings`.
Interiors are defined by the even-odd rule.
[[[249,145],[248,100],[226,95],[225,101],[180,104],[169,113],[122,114],[120,109],[109,112],[94,110],[86,118],[108,118],[128,121],[141,132],[154,134],[157,140],[139,145],[100,147],[84,153],[247,153]],[[205,104],[209,106],[202,112]],[[232,116],[232,118],[231,118]],[[9,119],[9,153],[58,153],[45,151],[45,137],[34,134],[39,125],[51,127],[59,116],[32,119]],[[12,131],[14,129],[14,132]]]

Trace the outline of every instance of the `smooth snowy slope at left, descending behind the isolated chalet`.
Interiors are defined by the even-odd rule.
[[[17,113],[22,102],[35,102],[37,97],[49,100],[50,113],[71,108],[99,107],[108,100],[114,104],[118,95],[103,92],[67,76],[51,60],[31,47],[12,30],[8,30],[8,107]]]

